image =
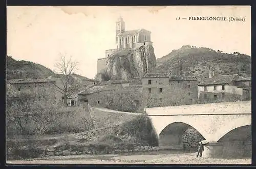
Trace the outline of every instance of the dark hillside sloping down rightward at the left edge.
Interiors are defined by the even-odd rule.
[[[54,75],[50,69],[28,61],[16,61],[7,56],[7,80],[26,78],[47,78]]]

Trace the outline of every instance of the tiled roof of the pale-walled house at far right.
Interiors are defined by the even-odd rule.
[[[238,74],[220,75],[220,76],[216,76],[216,77],[212,77],[212,78],[202,78],[199,81],[199,86],[202,86],[202,85],[221,85],[221,84],[227,84],[231,81],[243,81],[243,80],[250,80],[250,79],[241,77]]]

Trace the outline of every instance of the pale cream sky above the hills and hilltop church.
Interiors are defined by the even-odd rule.
[[[125,30],[152,32],[156,58],[183,45],[251,55],[249,6],[8,6],[7,55],[56,70],[54,64],[65,54],[79,63],[75,73],[94,78],[97,59],[116,48],[115,25],[120,16]],[[245,21],[176,20],[178,16]]]

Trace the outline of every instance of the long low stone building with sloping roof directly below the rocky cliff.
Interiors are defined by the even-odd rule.
[[[118,110],[142,110],[141,80],[112,80],[98,82],[91,88],[78,93],[81,105],[107,107]]]

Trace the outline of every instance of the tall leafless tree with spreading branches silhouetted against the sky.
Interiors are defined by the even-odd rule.
[[[68,99],[72,99],[72,95],[78,91],[80,83],[72,77],[72,74],[77,70],[78,62],[72,61],[72,57],[69,59],[65,55],[60,55],[59,61],[55,63],[56,71],[60,74],[60,85],[56,85],[58,92],[63,95],[63,102],[68,105]]]

